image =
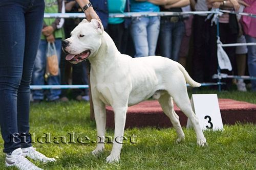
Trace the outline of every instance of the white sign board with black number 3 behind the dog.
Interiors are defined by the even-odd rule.
[[[203,130],[222,130],[222,118],[217,94],[193,94],[191,106],[196,113]],[[187,127],[191,122],[188,119]]]

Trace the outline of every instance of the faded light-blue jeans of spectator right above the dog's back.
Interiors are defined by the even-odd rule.
[[[159,27],[160,18],[158,16],[132,18],[131,36],[136,51],[134,57],[155,55]]]

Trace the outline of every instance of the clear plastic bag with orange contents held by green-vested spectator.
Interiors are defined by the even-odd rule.
[[[57,76],[59,72],[59,63],[54,43],[48,42],[46,58],[45,78],[47,79],[49,76]]]

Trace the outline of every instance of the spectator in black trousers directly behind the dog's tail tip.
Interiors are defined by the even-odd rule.
[[[190,0],[195,11],[208,11],[205,0]],[[207,14],[194,15],[192,77],[197,82],[209,82],[209,29]],[[215,35],[216,36],[216,35]],[[216,68],[217,69],[217,68]]]

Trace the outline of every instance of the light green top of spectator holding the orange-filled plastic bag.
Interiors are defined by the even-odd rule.
[[[59,12],[58,0],[45,0],[45,13],[58,13],[58,12]],[[54,23],[55,20],[56,18],[44,18],[44,25],[46,26],[55,25]],[[55,38],[61,38],[61,39],[65,38],[63,27],[61,27],[60,29],[56,27],[53,27],[53,28],[56,29],[54,31]],[[41,39],[46,39],[46,37],[43,34],[41,34]]]

